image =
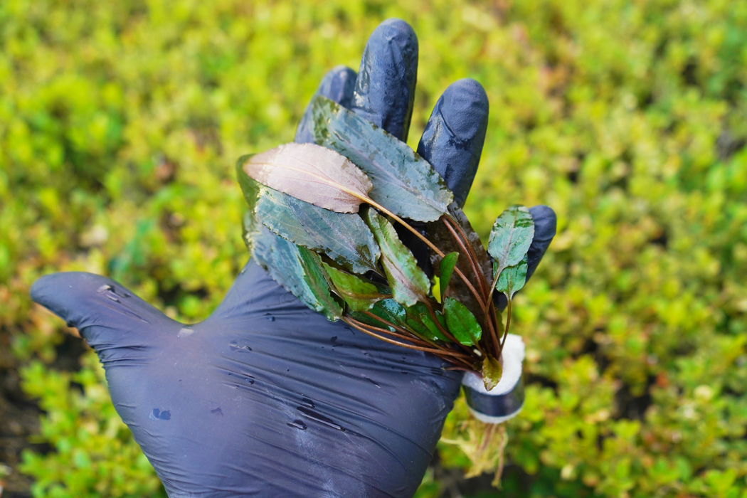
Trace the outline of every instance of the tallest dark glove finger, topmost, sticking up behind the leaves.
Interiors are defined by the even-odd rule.
[[[387,19],[366,43],[352,110],[406,141],[417,76],[415,31],[401,19]]]

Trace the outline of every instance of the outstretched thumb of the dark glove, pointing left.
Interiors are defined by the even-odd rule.
[[[31,286],[31,299],[76,327],[105,366],[143,360],[146,347],[178,334],[182,324],[153,308],[111,278],[92,273],[53,273]]]

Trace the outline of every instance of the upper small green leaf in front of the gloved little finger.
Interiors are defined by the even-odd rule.
[[[498,274],[524,258],[534,237],[534,221],[524,206],[512,206],[495,220],[488,241],[489,254],[498,261]]]

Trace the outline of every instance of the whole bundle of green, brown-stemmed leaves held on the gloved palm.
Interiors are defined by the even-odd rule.
[[[492,389],[526,280],[530,212],[503,211],[486,251],[441,175],[406,143],[323,96],[311,113],[316,144],[238,160],[252,258],[329,320],[480,372]],[[508,300],[505,326],[495,291]]]

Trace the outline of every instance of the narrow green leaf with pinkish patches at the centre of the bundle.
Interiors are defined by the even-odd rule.
[[[361,214],[379,244],[381,264],[394,300],[405,306],[425,301],[429,287],[428,277],[418,267],[412,252],[397,237],[397,231],[373,208],[366,208]]]

